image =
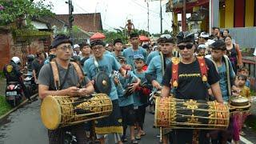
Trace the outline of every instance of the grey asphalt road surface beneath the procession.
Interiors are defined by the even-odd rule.
[[[48,143],[47,130],[42,125],[39,112],[40,101],[32,102],[10,114],[0,123],[0,144],[46,144]],[[141,144],[157,144],[158,130],[152,128],[154,116],[146,114],[145,131]],[[246,139],[256,143],[256,134],[252,130],[245,130]],[[110,136],[109,144],[113,144]],[[241,142],[248,143],[248,142]]]

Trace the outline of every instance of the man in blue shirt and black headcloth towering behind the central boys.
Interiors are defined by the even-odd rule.
[[[132,66],[132,69],[135,70],[134,55],[142,54],[146,60],[147,52],[145,49],[139,46],[139,39],[137,33],[130,34],[130,43],[132,46],[126,48],[126,50],[123,50],[123,55],[126,57],[126,63]]]

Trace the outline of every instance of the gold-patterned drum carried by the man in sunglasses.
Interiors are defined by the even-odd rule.
[[[156,98],[154,126],[171,129],[226,129],[230,110],[226,104],[202,100]]]

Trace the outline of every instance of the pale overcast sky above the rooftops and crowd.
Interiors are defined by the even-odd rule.
[[[54,5],[55,14],[68,14],[68,0],[46,0]],[[150,0],[150,33],[160,33],[160,2]],[[162,31],[171,30],[171,13],[166,13],[162,0]],[[147,7],[145,0],[73,0],[74,14],[101,13],[105,30],[124,27],[131,19],[136,29],[147,30]]]

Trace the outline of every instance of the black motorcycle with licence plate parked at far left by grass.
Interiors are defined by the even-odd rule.
[[[23,90],[19,82],[8,82],[6,85],[6,102],[18,106],[22,102]]]

